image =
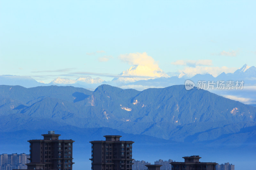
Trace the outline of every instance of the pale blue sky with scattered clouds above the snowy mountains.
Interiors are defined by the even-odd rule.
[[[169,75],[234,72],[256,66],[255,6],[246,0],[0,0],[0,75],[109,81],[147,64]]]

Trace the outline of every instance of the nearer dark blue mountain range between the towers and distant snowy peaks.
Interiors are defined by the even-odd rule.
[[[135,141],[136,160],[196,154],[250,169],[244,163],[255,160],[256,107],[184,85],[143,91],[0,85],[2,153],[28,152],[27,140],[40,139],[48,130],[76,141],[75,169],[90,169],[89,141],[104,135]]]

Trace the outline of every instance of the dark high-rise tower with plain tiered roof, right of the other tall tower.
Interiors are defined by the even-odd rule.
[[[132,170],[133,141],[120,141],[122,136],[107,135],[105,141],[91,141],[92,170]]]

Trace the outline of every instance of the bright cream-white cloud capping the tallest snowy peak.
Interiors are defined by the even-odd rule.
[[[156,61],[151,56],[148,56],[146,52],[124,54],[120,55],[119,58],[131,65],[145,65],[149,68],[158,68]]]

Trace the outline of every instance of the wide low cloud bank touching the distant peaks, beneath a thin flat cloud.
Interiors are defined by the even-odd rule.
[[[190,75],[191,77],[194,76],[195,74],[212,74],[212,76],[217,77],[220,75],[220,73],[225,72],[225,73],[233,73],[236,71],[237,68],[231,67],[228,68],[226,66],[223,67],[207,67],[207,66],[196,66],[196,67],[185,67],[183,70],[180,70],[180,72],[186,73],[188,76]]]

